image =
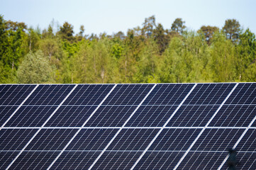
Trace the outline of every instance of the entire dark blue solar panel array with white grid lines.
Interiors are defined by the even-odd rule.
[[[0,85],[0,169],[256,169],[256,83]]]

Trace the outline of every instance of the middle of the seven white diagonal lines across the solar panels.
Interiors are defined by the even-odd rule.
[[[126,124],[128,123],[128,121],[130,120],[130,118],[133,117],[133,115],[135,114],[136,111],[138,111],[138,108],[140,108],[140,106],[142,105],[142,103],[145,101],[146,98],[148,98],[148,96],[151,94],[151,92],[153,91],[153,89],[155,89],[155,86],[157,86],[157,84],[155,84],[152,89],[150,89],[150,91],[148,92],[148,94],[143,98],[143,101],[140,102],[140,104],[137,106],[137,108],[135,108],[135,110],[133,111],[133,113],[130,115],[130,117],[126,120],[125,123],[123,123],[123,126],[118,130],[118,132],[116,132],[116,135],[114,135],[111,139],[110,142],[108,142],[108,145],[106,145],[106,147],[104,148],[104,150],[101,152],[101,154],[99,154],[99,156],[94,160],[94,163],[91,164],[91,166],[89,167],[89,170],[92,169],[92,167],[94,166],[94,164],[96,164],[96,162],[100,159],[100,157],[102,156],[102,154],[104,154],[104,152],[106,151],[106,149],[109,147],[109,145],[111,145],[111,143],[113,142],[113,140],[115,140],[115,138],[118,136],[118,134],[121,132],[121,130],[126,126]]]

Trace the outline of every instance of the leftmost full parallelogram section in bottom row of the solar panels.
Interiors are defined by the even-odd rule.
[[[47,169],[60,152],[23,152],[10,169]]]

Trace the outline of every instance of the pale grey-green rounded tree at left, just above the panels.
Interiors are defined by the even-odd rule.
[[[18,67],[18,82],[22,84],[41,84],[51,82],[52,68],[43,52],[29,52]]]

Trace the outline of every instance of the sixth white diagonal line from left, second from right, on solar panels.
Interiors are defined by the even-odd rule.
[[[179,162],[177,163],[177,165],[174,167],[174,170],[178,168],[179,164],[182,163],[183,159],[187,156],[187,154],[189,153],[189,151],[191,150],[191,148],[194,146],[194,144],[196,143],[197,140],[199,140],[199,137],[202,135],[202,133],[204,132],[204,130],[206,130],[206,127],[208,127],[208,125],[211,123],[211,120],[213,120],[213,118],[217,115],[218,111],[221,110],[221,107],[223,106],[224,103],[226,103],[226,101],[228,100],[229,96],[233,93],[233,91],[235,90],[235,88],[238,86],[238,83],[235,84],[235,86],[233,87],[233,89],[230,91],[230,93],[228,94],[228,96],[225,98],[225,100],[221,103],[221,106],[218,107],[217,111],[213,114],[213,116],[211,117],[210,120],[208,120],[208,123],[206,123],[205,127],[201,130],[201,132],[199,133],[199,135],[196,137],[196,139],[194,140],[194,142],[192,142],[192,144],[190,145],[189,149],[187,149],[187,151],[184,153],[184,155],[182,156],[181,159],[179,159]]]

